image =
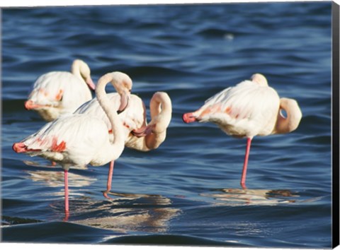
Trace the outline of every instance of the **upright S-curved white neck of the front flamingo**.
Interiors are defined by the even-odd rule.
[[[118,82],[115,81],[113,73],[107,73],[98,80],[98,84],[96,86],[96,97],[111,123],[112,133],[114,137],[113,143],[111,145],[113,146],[113,150],[115,150],[115,147],[124,147],[125,138],[123,125],[120,122],[117,112],[111,109],[111,102],[106,95],[105,88],[109,82],[111,82],[113,84],[113,87],[115,88],[116,85],[118,85]]]

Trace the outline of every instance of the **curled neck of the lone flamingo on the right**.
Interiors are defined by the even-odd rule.
[[[279,110],[274,133],[289,133],[297,129],[302,118],[302,112],[297,102],[293,99],[281,98],[280,109],[287,113],[287,117],[283,117]]]

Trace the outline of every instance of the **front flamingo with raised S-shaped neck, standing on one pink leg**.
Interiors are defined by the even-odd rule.
[[[99,105],[111,123],[113,139],[110,138],[104,121],[91,114],[65,114],[42,127],[38,132],[13,144],[16,153],[44,157],[62,165],[64,169],[65,213],[69,213],[69,191],[67,172],[69,167],[105,165],[118,159],[124,149],[123,125],[117,112],[111,109],[111,102],[105,86],[111,81],[118,93],[123,87],[115,78],[115,73],[107,73],[98,80],[96,97]]]

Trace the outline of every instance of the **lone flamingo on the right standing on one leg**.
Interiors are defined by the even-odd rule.
[[[281,112],[284,110],[287,117]],[[280,98],[268,86],[266,78],[256,73],[251,81],[242,81],[210,97],[195,112],[183,114],[183,121],[212,122],[227,135],[247,138],[241,186],[246,189],[246,168],[254,136],[290,133],[297,129],[302,112],[296,100]]]

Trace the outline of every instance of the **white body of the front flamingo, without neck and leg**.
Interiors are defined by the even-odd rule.
[[[21,143],[15,143],[13,150],[58,162],[66,170],[70,166],[105,165],[117,159],[124,148],[121,146],[115,155],[104,157],[110,145],[106,127],[103,121],[89,114],[66,114],[45,124]]]

